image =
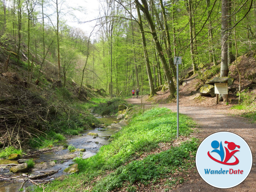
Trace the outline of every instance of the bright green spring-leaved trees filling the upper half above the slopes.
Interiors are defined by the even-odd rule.
[[[63,18],[72,17],[72,10],[82,12],[67,4],[60,0],[1,4],[1,44],[14,53],[11,57],[18,64],[26,57],[26,77],[33,83],[38,84],[41,71],[56,66],[64,87],[68,78],[103,88],[111,96],[140,87],[154,95],[154,88],[171,81],[174,97],[174,56],[182,57],[181,78],[205,63],[220,62],[222,76],[228,76],[228,65],[236,57],[255,52],[252,0],[101,1],[91,34],[66,24]],[[29,76],[32,71],[36,75]]]

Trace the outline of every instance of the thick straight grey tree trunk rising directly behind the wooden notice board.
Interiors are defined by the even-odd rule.
[[[228,0],[222,0],[221,4],[221,63],[220,76],[228,76]]]

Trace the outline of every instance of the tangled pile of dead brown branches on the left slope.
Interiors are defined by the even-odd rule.
[[[40,94],[0,81],[0,142],[20,146],[26,139],[44,134],[45,125],[56,115]]]

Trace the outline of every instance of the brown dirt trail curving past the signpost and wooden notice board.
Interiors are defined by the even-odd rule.
[[[194,137],[200,141],[204,140],[208,135],[219,132],[229,131],[240,135],[249,144],[252,150],[253,165],[249,176],[240,185],[230,189],[219,189],[208,185],[197,173],[196,168],[192,173],[191,180],[185,182],[182,186],[178,186],[173,192],[255,192],[256,191],[256,124],[250,123],[246,118],[229,115],[231,110],[225,105],[215,106],[189,106],[187,97],[180,98],[179,111],[182,114],[192,117],[198,124],[199,132],[194,133]],[[131,104],[139,104],[140,99],[128,99]],[[146,107],[151,106],[151,103],[146,103]],[[176,103],[173,104],[159,104],[159,107],[167,107],[172,111],[177,111]]]

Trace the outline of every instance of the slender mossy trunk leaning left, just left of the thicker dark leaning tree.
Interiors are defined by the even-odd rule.
[[[138,12],[138,23],[139,23],[139,26],[140,26],[140,33],[141,33],[141,39],[142,39],[142,45],[143,45],[143,51],[144,51],[144,58],[145,58],[146,69],[147,69],[147,74],[148,74],[150,97],[151,97],[151,96],[156,94],[156,91],[155,91],[155,88],[154,88],[154,81],[153,81],[153,78],[152,78],[152,73],[151,73],[150,65],[149,65],[148,50],[147,50],[147,45],[146,45],[144,29],[143,29],[143,26],[142,26],[141,16],[140,16],[140,9],[139,9],[138,5],[136,5],[136,8],[137,8],[137,12]]]

